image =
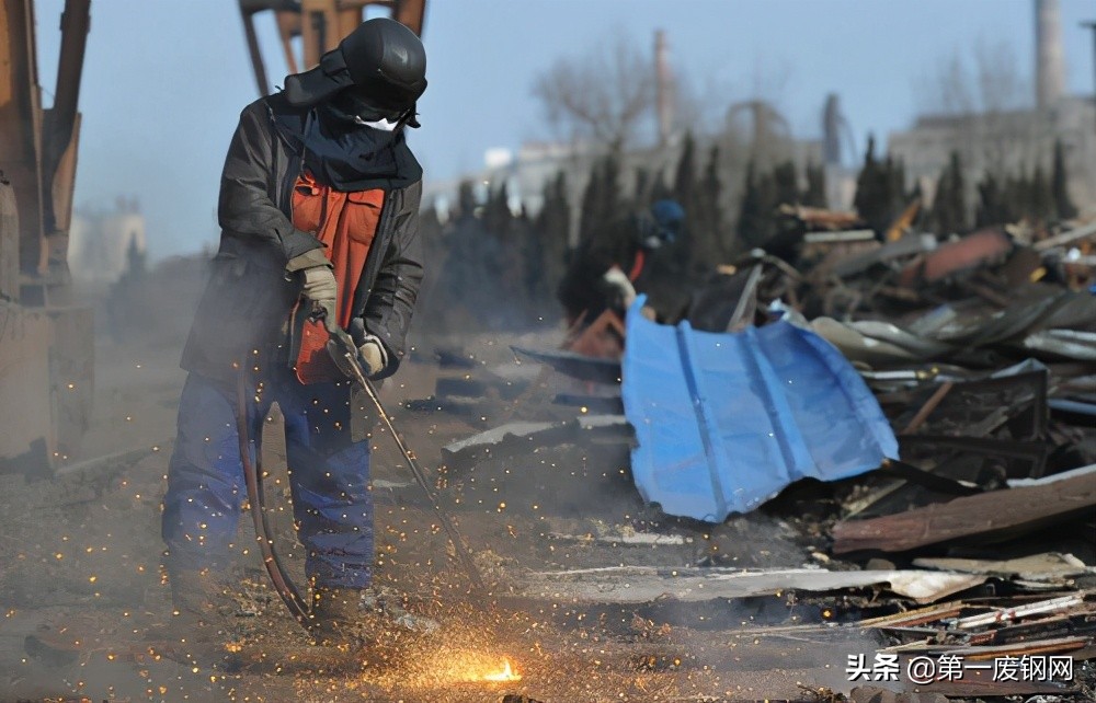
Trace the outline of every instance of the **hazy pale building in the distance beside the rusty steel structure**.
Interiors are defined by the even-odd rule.
[[[85,284],[113,284],[130,252],[144,255],[145,216],[135,199],[118,198],[111,210],[78,208],[69,230],[69,269]]]

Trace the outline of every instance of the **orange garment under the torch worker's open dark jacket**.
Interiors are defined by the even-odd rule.
[[[350,329],[354,292],[365,268],[365,258],[377,234],[385,192],[380,188],[340,193],[316,181],[307,171],[293,187],[293,226],[326,245],[324,253],[339,283],[335,312],[339,326]],[[328,331],[322,323],[306,321],[294,370],[301,383],[343,380],[327,350]]]

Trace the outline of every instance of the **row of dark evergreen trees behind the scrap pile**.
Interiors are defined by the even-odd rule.
[[[790,228],[798,223],[789,223],[779,206],[826,205],[821,165],[808,163],[800,171],[791,160],[768,168],[751,161],[737,194],[737,212],[729,216],[723,155],[718,142],[700,148],[687,136],[672,168],[626,173],[621,159],[610,150],[591,166],[576,218],[562,172],[545,184],[543,207],[532,216],[513,209],[505,184],[482,203],[470,183],[461,185],[453,217],[443,224],[427,215],[424,222],[430,261],[441,270],[427,296],[446,310],[445,319],[435,323],[501,329],[555,322],[556,287],[573,251],[572,240],[581,245],[613,219],[660,198],[674,198],[686,211],[682,240],[660,254],[683,280],[698,280],[715,264],[754,246],[772,245],[780,234],[794,231]],[[856,185],[855,208],[866,226],[880,234],[923,197],[920,184],[906,187],[903,164],[890,155],[878,157],[870,139]],[[952,154],[937,181],[932,208],[923,208],[915,224],[945,235],[1021,218],[1047,221],[1076,214],[1068,196],[1060,143],[1049,175],[1041,168],[1003,181],[986,174],[974,191],[977,203],[971,204],[960,157]],[[454,312],[454,302],[464,312]]]

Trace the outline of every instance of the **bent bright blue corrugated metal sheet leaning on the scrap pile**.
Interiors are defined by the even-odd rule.
[[[627,315],[624,406],[643,498],[721,522],[801,477],[845,479],[898,458],[875,396],[829,342],[787,322],[735,334]]]

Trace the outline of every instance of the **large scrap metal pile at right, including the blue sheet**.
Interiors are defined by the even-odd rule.
[[[835,505],[810,526],[822,568],[708,558],[693,566],[716,568],[529,581],[621,602],[695,600],[698,583],[704,598],[855,596],[871,616],[840,626],[878,644],[849,661],[867,667],[861,681],[891,680],[872,661],[897,661],[923,691],[1093,700],[1096,222],[880,242],[801,215],[818,231],[794,254],[720,267],[677,325],[637,303],[621,359],[528,346],[514,348],[525,364],[493,368],[439,356],[448,378],[409,407],[484,429],[445,448],[447,475],[560,445],[625,446],[639,494],[677,529],[779,510],[766,502],[801,477],[835,482],[815,488]],[[911,662],[932,671],[918,681]],[[860,693],[889,700],[872,695]]]

